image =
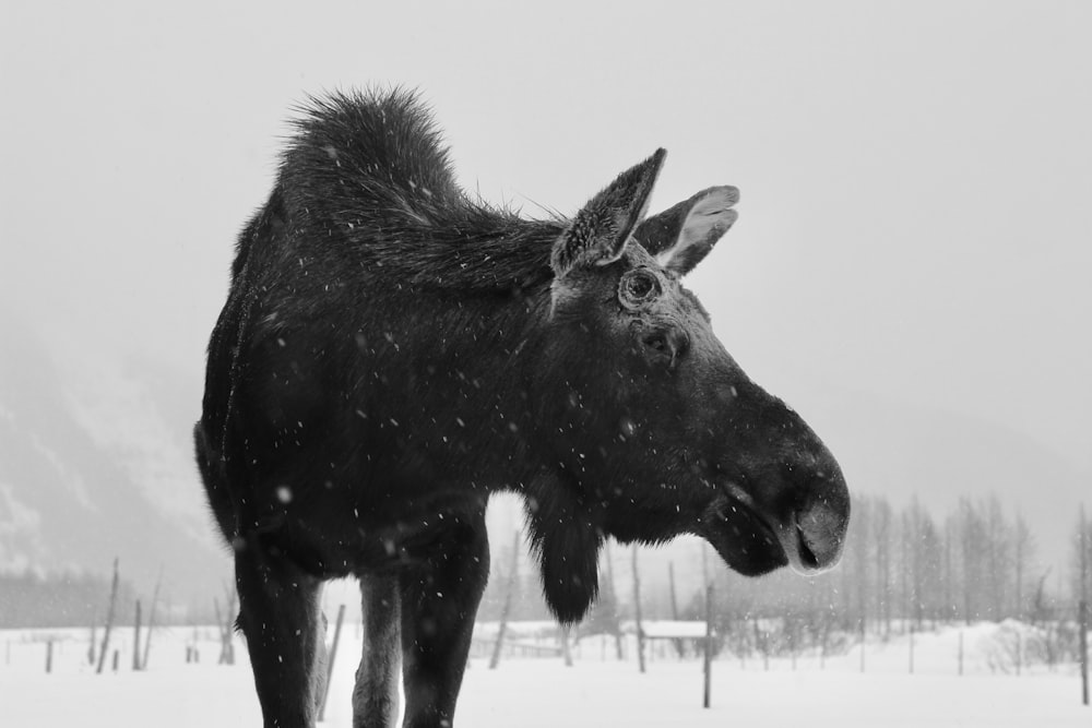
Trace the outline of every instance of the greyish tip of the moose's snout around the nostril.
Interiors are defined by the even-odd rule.
[[[850,493],[841,475],[812,481],[794,517],[795,533],[785,551],[799,572],[815,573],[834,566],[842,556],[850,524]]]

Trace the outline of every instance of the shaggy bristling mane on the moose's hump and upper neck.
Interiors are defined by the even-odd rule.
[[[297,112],[277,183],[296,244],[415,286],[510,291],[553,277],[550,247],[568,222],[471,201],[412,92],[337,92]]]

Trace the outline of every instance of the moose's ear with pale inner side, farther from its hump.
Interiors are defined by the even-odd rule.
[[[736,188],[711,187],[641,223],[633,239],[665,268],[686,275],[736,222],[738,201]]]

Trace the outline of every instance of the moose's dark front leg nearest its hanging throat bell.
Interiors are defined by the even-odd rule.
[[[489,577],[485,514],[446,534],[425,565],[402,574],[404,728],[450,728]]]

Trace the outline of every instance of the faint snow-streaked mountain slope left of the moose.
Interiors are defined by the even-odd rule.
[[[67,347],[67,349],[66,349]],[[0,359],[0,568],[106,572],[171,598],[228,577],[189,438],[144,379],[5,326]],[[177,386],[177,383],[174,384]]]

